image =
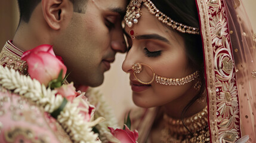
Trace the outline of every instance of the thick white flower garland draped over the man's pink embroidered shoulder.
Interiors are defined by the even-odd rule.
[[[63,101],[61,95],[55,96],[57,91],[46,88],[38,80],[32,80],[29,76],[22,76],[18,71],[9,70],[7,67],[0,66],[0,85],[2,88],[13,91],[14,94],[32,100],[48,113],[52,113]],[[68,101],[57,117],[57,121],[75,143],[99,143],[100,141],[97,141],[98,135],[92,132],[92,126],[95,126],[95,123],[102,119],[85,122],[82,114],[79,114],[79,111],[82,110],[82,108],[78,108],[79,102],[79,99],[75,99],[73,102]]]

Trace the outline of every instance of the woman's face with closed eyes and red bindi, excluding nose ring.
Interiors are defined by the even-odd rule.
[[[158,21],[144,6],[141,11],[138,23],[132,28],[125,27],[131,48],[122,65],[122,69],[130,74],[134,103],[140,107],[156,107],[186,100],[184,97],[187,94],[196,92],[194,82],[169,86],[154,81],[150,85],[142,85],[135,79],[132,71],[134,63],[147,64],[159,76],[169,78],[181,78],[195,72],[189,65],[183,38]]]

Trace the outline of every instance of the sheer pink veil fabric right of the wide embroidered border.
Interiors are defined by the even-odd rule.
[[[240,104],[240,128],[242,136],[249,135],[249,141],[256,142],[256,70],[255,42],[252,39],[251,23],[241,1],[226,1],[233,57],[238,83]]]

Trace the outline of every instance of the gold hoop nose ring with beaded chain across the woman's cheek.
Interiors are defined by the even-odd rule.
[[[153,71],[153,78],[152,78],[152,80],[150,80],[150,82],[142,82],[136,76],[136,74],[141,73],[141,71],[143,70],[142,65],[149,67],[150,70]],[[159,83],[161,85],[184,85],[186,83],[192,82],[193,80],[199,78],[199,71],[195,71],[195,73],[192,73],[192,74],[190,74],[189,76],[186,76],[186,77],[181,77],[179,79],[158,76],[155,73],[155,71],[152,69],[152,67],[150,67],[147,64],[142,64],[142,63],[135,63],[132,66],[132,70],[133,70],[134,76],[137,79],[137,81],[144,84],[144,85],[150,85],[154,80],[156,81],[156,83]]]

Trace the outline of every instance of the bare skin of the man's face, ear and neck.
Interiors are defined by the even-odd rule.
[[[119,0],[88,0],[76,13],[69,0],[42,0],[29,23],[19,24],[13,43],[23,51],[53,45],[71,72],[69,81],[76,86],[101,85],[116,52],[126,51],[121,26],[126,5]]]

